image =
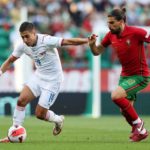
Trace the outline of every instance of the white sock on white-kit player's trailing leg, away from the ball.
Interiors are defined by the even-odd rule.
[[[62,121],[62,118],[59,115],[56,115],[53,111],[48,110],[45,120],[49,122],[59,123]]]

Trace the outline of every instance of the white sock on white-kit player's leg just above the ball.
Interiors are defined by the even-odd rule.
[[[25,118],[25,107],[16,106],[13,115],[13,126],[22,125]]]

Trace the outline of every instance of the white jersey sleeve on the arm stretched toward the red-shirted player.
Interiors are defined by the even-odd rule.
[[[50,36],[50,35],[45,35],[43,37],[43,42],[44,44],[48,45],[51,48],[57,48],[60,47],[62,44],[63,38],[55,37],[55,36]]]

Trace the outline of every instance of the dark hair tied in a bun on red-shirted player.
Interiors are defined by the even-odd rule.
[[[116,20],[124,20],[126,22],[126,8],[115,8],[109,14],[108,17],[114,17]]]

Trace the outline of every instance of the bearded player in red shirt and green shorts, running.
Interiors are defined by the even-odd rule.
[[[111,93],[113,102],[120,108],[123,116],[132,127],[130,140],[138,142],[148,136],[144,122],[139,118],[133,107],[136,93],[144,89],[150,80],[146,62],[144,42],[150,42],[150,33],[144,29],[126,25],[125,9],[116,8],[108,14],[110,31],[99,45],[96,45],[96,35],[89,37],[89,46],[96,56],[112,45],[122,71],[118,87]]]

